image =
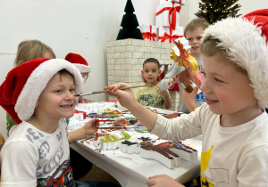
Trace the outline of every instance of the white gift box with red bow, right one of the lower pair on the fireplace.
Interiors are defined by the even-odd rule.
[[[159,27],[159,42],[174,43],[174,40],[183,37],[183,27],[172,28]]]

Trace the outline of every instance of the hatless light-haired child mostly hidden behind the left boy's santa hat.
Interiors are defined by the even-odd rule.
[[[53,50],[39,40],[25,40],[18,45],[17,55],[14,61],[14,67],[21,65],[26,61],[38,58],[55,59]],[[9,136],[10,129],[17,125],[16,122],[6,113],[6,129]]]

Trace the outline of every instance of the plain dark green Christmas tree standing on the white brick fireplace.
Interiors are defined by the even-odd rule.
[[[138,27],[138,20],[135,12],[133,4],[131,0],[128,0],[125,10],[126,14],[123,15],[121,20],[121,29],[119,30],[118,36],[116,40],[126,39],[126,38],[134,38],[134,39],[142,39],[140,29]]]

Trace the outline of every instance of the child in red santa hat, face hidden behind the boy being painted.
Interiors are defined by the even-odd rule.
[[[88,79],[88,73],[90,73],[91,68],[88,66],[88,61],[84,59],[80,54],[77,53],[68,53],[65,56],[66,61],[70,61],[75,65],[77,69],[80,70],[81,76],[84,78],[84,81]],[[85,99],[83,96],[79,97],[79,103],[88,103],[90,100]]]

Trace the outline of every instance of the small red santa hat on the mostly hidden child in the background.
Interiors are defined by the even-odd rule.
[[[65,56],[65,60],[73,63],[73,65],[80,70],[80,73],[90,73],[91,71],[88,62],[80,54],[68,53]]]

